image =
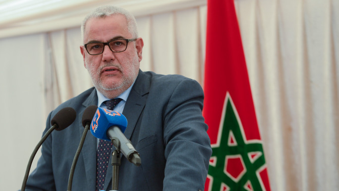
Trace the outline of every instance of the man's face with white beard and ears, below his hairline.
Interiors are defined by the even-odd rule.
[[[123,15],[91,18],[86,23],[84,44],[131,38],[132,34],[127,30],[127,22]],[[115,95],[118,96],[132,85],[138,75],[142,47],[143,41],[138,38],[129,42],[127,49],[120,53],[113,53],[108,46],[105,46],[104,52],[100,55],[89,55],[84,46],[80,46],[80,50],[95,87],[102,93],[113,90],[118,92]]]

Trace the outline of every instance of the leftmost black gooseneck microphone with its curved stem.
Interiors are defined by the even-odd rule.
[[[29,158],[27,168],[26,168],[26,172],[25,172],[25,176],[24,176],[24,180],[23,180],[22,186],[21,186],[21,191],[25,191],[26,183],[27,183],[27,179],[28,179],[28,174],[29,174],[29,171],[31,169],[33,159],[34,159],[35,155],[37,154],[42,143],[47,139],[48,135],[50,135],[51,132],[54,129],[62,130],[64,128],[70,126],[75,121],[75,118],[76,118],[76,112],[73,108],[70,108],[70,107],[63,108],[59,112],[56,113],[54,118],[51,120],[52,127],[50,129],[48,129],[48,131],[41,138],[41,140],[39,141],[39,143],[37,144],[37,146],[33,150],[31,157]]]

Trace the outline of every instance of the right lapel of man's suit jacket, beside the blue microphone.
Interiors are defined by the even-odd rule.
[[[128,95],[125,107],[123,109],[122,114],[126,117],[127,119],[127,128],[124,132],[124,135],[126,136],[127,139],[130,139],[132,136],[133,130],[135,128],[135,125],[140,117],[140,114],[142,110],[145,107],[146,101],[147,101],[147,96],[149,92],[149,87],[150,84],[146,83],[149,82],[150,80],[147,79],[147,75],[139,70],[139,74],[137,79],[135,80],[135,83],[131,89],[131,92]],[[115,150],[115,147],[113,146],[112,151]],[[125,157],[122,155],[120,157]],[[109,166],[107,168],[107,174],[105,178],[105,184],[104,184],[104,189],[108,190],[109,184],[112,183],[112,156],[110,156],[109,160]]]

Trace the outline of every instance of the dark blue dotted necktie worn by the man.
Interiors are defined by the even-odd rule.
[[[121,101],[121,98],[114,98],[112,100],[105,101],[107,109],[113,110],[113,108]],[[105,184],[105,177],[107,167],[109,164],[110,155],[112,152],[112,142],[100,139],[97,150],[97,191],[103,190]]]

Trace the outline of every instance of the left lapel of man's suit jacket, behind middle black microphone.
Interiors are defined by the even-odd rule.
[[[88,98],[83,102],[83,109],[79,113],[79,133],[80,137],[83,134],[84,127],[82,126],[82,115],[84,113],[84,110],[91,105],[97,105],[98,103],[98,96],[96,89],[93,89],[92,93],[88,96]],[[84,145],[81,150],[82,158],[84,160],[85,164],[85,172],[86,172],[86,181],[88,185],[89,191],[95,191],[96,190],[96,165],[97,164],[97,138],[94,137],[90,130],[88,130]]]

